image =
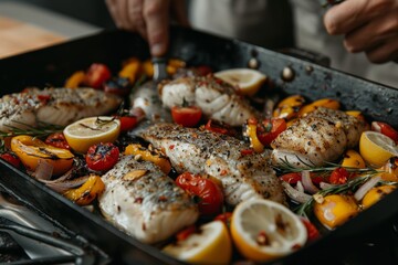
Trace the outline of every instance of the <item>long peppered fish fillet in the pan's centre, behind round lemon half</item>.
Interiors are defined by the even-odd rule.
[[[178,172],[218,179],[229,204],[253,198],[285,203],[280,180],[268,165],[268,152],[242,155],[249,146],[233,137],[174,124],[154,125],[142,137],[161,149]]]

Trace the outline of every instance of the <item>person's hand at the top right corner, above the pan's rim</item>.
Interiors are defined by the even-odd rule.
[[[348,52],[365,52],[373,63],[398,59],[398,0],[346,0],[326,12],[324,24],[345,35]]]

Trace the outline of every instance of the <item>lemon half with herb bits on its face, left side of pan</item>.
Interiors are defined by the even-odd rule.
[[[100,116],[77,120],[69,125],[63,134],[70,147],[80,153],[100,142],[114,142],[121,131],[121,121],[114,117]]]

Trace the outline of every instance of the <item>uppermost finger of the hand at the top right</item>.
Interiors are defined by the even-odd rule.
[[[347,0],[331,8],[324,24],[332,35],[346,34],[387,12],[395,0]]]

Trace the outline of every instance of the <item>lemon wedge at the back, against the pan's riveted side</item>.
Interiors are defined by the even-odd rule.
[[[231,68],[214,73],[214,76],[239,88],[243,95],[252,96],[266,81],[266,75],[251,68]]]

